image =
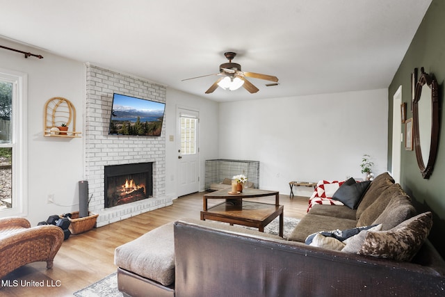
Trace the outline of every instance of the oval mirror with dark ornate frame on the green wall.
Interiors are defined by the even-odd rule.
[[[439,94],[437,81],[421,68],[412,104],[412,128],[417,164],[428,179],[436,161],[439,143]]]

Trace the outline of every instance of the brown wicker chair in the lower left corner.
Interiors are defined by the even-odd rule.
[[[32,227],[26,218],[0,218],[0,278],[32,262],[53,260],[63,243],[63,231],[54,225]]]

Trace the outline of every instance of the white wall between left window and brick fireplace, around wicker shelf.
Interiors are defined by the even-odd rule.
[[[6,47],[44,56],[41,60],[24,58],[22,54],[0,50],[0,67],[28,74],[27,218],[36,225],[50,215],[79,210],[77,182],[83,179],[83,138],[44,137],[43,115],[48,99],[65,97],[76,108],[76,130],[83,131],[84,66],[40,49],[0,41]],[[54,195],[56,204],[47,204],[49,194]]]

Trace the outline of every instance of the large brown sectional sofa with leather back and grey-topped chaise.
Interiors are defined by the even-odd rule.
[[[116,249],[118,287],[125,296],[443,296],[445,262],[426,239],[431,225],[385,173],[357,209],[314,205],[289,241],[196,219],[159,227],[162,235],[156,229]],[[362,226],[380,231],[346,241],[316,234],[343,250],[305,244],[310,234]],[[155,273],[141,275],[144,265]]]

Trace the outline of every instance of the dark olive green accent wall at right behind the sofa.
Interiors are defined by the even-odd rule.
[[[416,35],[407,50],[394,79],[389,86],[389,147],[388,169],[391,168],[392,154],[392,108],[393,96],[402,86],[402,102],[407,103],[407,118],[412,118],[410,76],[414,68],[424,67],[425,72],[432,74],[439,84],[439,149],[435,168],[429,179],[423,179],[417,166],[414,150],[404,150],[403,140],[401,152],[401,186],[410,195],[419,213],[432,211],[434,224],[429,239],[445,258],[445,127],[444,127],[444,81],[445,81],[445,1],[433,0],[426,12]],[[402,130],[405,137],[405,125]]]

